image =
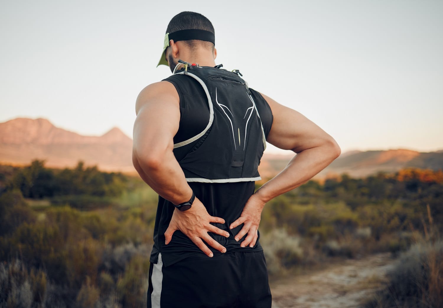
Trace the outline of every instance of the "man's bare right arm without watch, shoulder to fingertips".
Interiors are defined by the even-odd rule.
[[[243,224],[235,235],[235,239],[239,241],[246,233],[248,234],[241,242],[242,247],[255,245],[261,212],[266,202],[309,181],[341,153],[334,138],[314,122],[301,113],[260,94],[268,102],[274,117],[267,141],[280,149],[292,150],[296,155],[284,170],[253,193],[246,202],[241,216],[230,225],[230,229],[233,229]]]

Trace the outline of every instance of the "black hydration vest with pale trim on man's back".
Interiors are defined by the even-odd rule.
[[[204,130],[174,144],[198,142],[178,160],[187,182],[225,183],[261,180],[258,165],[266,138],[248,83],[239,72],[185,64],[174,75],[187,75],[203,87],[209,103]],[[177,155],[176,155],[177,157]]]

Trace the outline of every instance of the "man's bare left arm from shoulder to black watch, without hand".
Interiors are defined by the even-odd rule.
[[[172,152],[179,129],[179,95],[160,81],[145,87],[136,100],[132,162],[140,177],[156,193],[174,204],[192,196],[185,175]]]

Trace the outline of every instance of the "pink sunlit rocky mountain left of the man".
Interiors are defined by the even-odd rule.
[[[82,136],[45,118],[15,118],[0,123],[0,162],[27,165],[46,159],[47,167],[73,167],[78,160],[99,169],[135,172],[132,139],[118,127],[101,136]]]

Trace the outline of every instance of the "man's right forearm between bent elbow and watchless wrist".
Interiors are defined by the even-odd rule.
[[[338,157],[337,152],[337,148],[329,144],[301,151],[289,161],[284,170],[264,183],[254,194],[266,203],[301,186],[333,162]]]

